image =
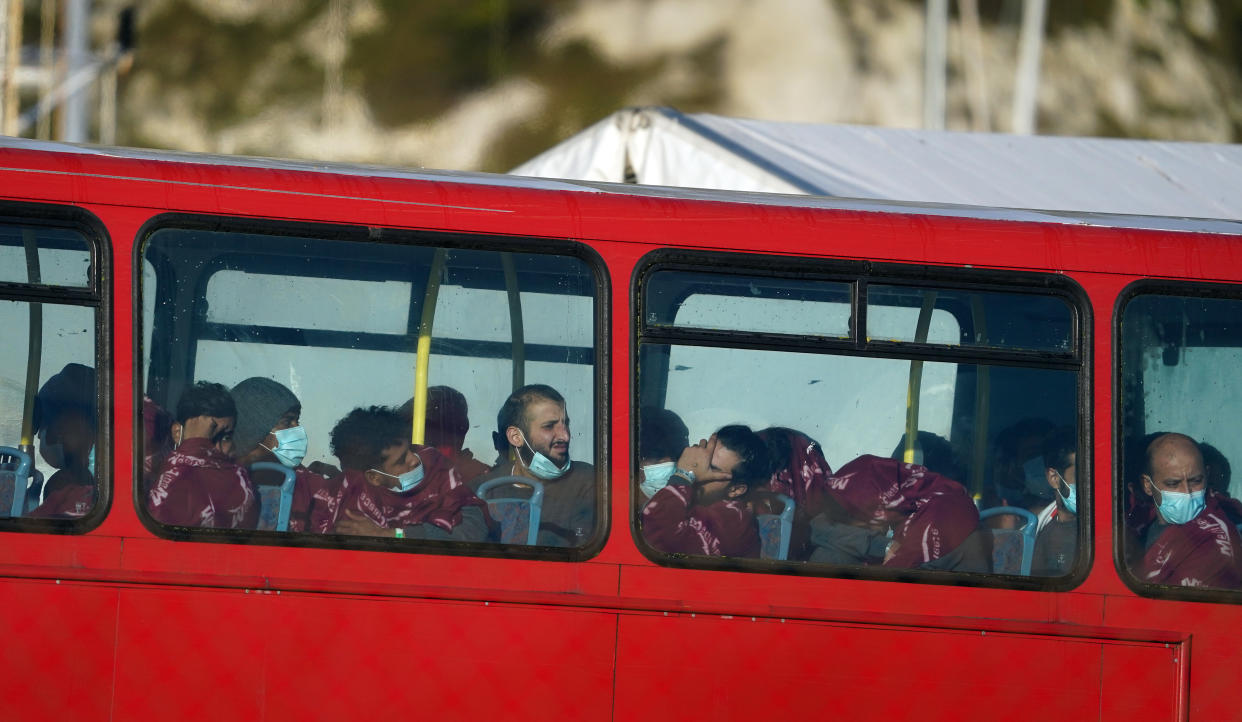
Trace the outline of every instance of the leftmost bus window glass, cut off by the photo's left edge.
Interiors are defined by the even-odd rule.
[[[108,455],[96,378],[99,295],[76,229],[0,221],[0,523],[84,531]],[[37,529],[41,523],[10,528]],[[43,526],[42,528],[47,528]]]

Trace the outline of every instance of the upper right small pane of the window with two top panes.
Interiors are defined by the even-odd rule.
[[[1073,343],[1069,306],[1056,296],[877,283],[867,287],[867,334],[876,340],[1051,352],[1068,352]],[[920,338],[920,314],[909,311],[924,307],[930,322]],[[961,322],[950,324],[949,318]]]

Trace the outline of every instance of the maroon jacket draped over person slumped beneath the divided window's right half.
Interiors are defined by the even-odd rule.
[[[897,552],[886,567],[913,569],[939,559],[979,528],[979,510],[966,488],[914,464],[859,456],[828,486],[852,518],[892,528]]]

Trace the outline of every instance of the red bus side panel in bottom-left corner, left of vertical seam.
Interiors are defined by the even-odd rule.
[[[109,717],[117,596],[106,587],[0,583],[0,717]]]

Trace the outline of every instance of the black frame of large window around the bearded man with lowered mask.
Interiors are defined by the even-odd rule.
[[[604,258],[595,249],[573,239],[544,239],[533,236],[517,236],[502,234],[468,234],[462,231],[441,231],[427,229],[404,227],[376,227],[376,226],[351,226],[334,222],[310,221],[278,221],[270,219],[252,219],[238,216],[216,216],[202,214],[168,212],[149,219],[138,230],[134,239],[133,250],[133,288],[134,288],[134,328],[143,328],[143,261],[145,250],[152,236],[158,231],[210,231],[230,234],[256,234],[272,235],[282,239],[306,237],[314,241],[353,241],[388,244],[400,246],[416,246],[425,249],[446,250],[473,250],[484,252],[513,252],[549,255],[558,257],[573,257],[585,265],[594,280],[594,415],[591,418],[591,434],[595,436],[595,456],[590,460],[596,470],[596,526],[594,536],[581,547],[537,547],[522,544],[503,544],[499,542],[456,542],[441,539],[395,539],[385,537],[354,537],[348,534],[315,534],[309,532],[276,532],[263,529],[217,529],[204,527],[175,527],[163,524],[148,513],[145,497],[142,493],[142,460],[143,460],[143,396],[147,389],[147,350],[143,345],[143,334],[135,332],[134,336],[134,481],[133,505],[138,518],[154,536],[176,542],[214,542],[226,544],[258,544],[272,547],[296,548],[322,548],[335,551],[379,551],[411,554],[437,554],[456,557],[491,557],[514,559],[546,559],[555,562],[584,562],[596,557],[602,549],[611,532],[611,492],[607,483],[607,465],[611,457],[611,437],[609,434],[610,399],[609,378],[611,373],[611,333],[610,333],[610,304],[611,304],[611,280]],[[219,263],[217,263],[219,266]],[[222,266],[219,266],[219,270]],[[159,276],[161,270],[155,267]],[[204,298],[206,283],[211,273],[200,276],[201,288],[195,288],[193,295]],[[414,316],[411,323],[416,324]],[[211,339],[215,336],[205,333],[212,326],[227,326],[207,323],[205,319],[193,319],[190,326],[199,334],[199,339]],[[153,328],[153,345],[159,326]],[[317,332],[324,334],[337,334],[340,332]],[[412,343],[411,343],[412,345]],[[529,360],[529,359],[528,359]],[[171,362],[170,362],[171,363]],[[499,409],[503,399],[497,400]],[[479,411],[476,411],[478,414]],[[482,419],[491,420],[494,410],[483,410]],[[584,460],[585,461],[585,460]]]

